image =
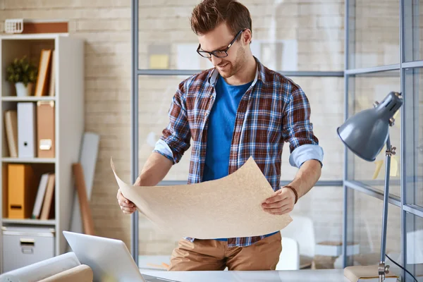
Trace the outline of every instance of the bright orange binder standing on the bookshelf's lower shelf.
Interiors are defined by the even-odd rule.
[[[8,218],[29,219],[36,193],[32,167],[8,164]]]

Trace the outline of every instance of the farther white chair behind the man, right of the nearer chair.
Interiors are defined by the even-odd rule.
[[[281,230],[282,237],[296,240],[300,247],[300,268],[311,266],[316,245],[314,237],[314,223],[306,216],[293,216],[293,221]],[[284,247],[284,246],[283,246]]]

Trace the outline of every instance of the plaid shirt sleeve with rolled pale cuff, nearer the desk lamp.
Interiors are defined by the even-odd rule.
[[[310,121],[311,109],[307,96],[298,85],[288,97],[283,115],[282,135],[290,146],[289,162],[300,167],[305,161],[316,159],[323,165],[323,149],[313,133]]]

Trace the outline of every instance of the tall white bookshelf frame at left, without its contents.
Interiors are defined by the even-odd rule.
[[[6,66],[15,58],[27,55],[29,59],[39,60],[42,48],[54,49],[56,56],[56,85],[54,97],[16,97],[12,87],[6,82]],[[37,53],[38,52],[38,53]],[[55,255],[66,252],[66,240],[62,231],[71,226],[72,205],[75,188],[73,185],[72,164],[78,162],[80,142],[84,131],[84,43],[78,37],[67,34],[45,35],[0,35],[0,97],[1,97],[1,166],[7,164],[31,164],[34,167],[47,167],[56,174],[54,219],[7,219],[4,218],[3,173],[0,173],[0,226],[47,226],[54,228]],[[20,159],[8,154],[4,130],[4,112],[16,109],[18,102],[54,101],[55,102],[55,157],[51,159]],[[36,185],[38,186],[38,185]],[[0,233],[0,250],[2,247]],[[11,254],[13,255],[13,254]],[[0,253],[0,274],[3,273],[3,254]]]

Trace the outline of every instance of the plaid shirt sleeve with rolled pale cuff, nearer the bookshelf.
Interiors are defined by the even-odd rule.
[[[153,150],[170,159],[173,164],[177,164],[190,147],[191,133],[183,99],[184,92],[184,83],[181,82],[168,111],[169,123]]]

